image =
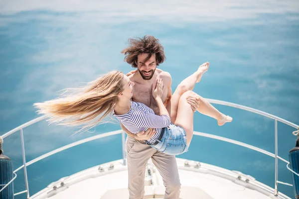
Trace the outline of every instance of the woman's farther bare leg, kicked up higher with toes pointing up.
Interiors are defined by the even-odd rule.
[[[196,83],[200,82],[202,75],[209,69],[209,62],[206,62],[198,67],[197,71],[184,79],[175,89],[171,99],[170,119],[174,123],[176,119],[178,101],[186,91],[192,91]],[[190,104],[189,104],[190,105]]]

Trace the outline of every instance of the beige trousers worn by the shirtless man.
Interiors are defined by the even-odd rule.
[[[130,136],[126,140],[129,173],[129,199],[144,199],[145,172],[149,158],[152,159],[163,179],[164,199],[179,199],[180,181],[175,156],[166,155],[151,148],[144,140]]]

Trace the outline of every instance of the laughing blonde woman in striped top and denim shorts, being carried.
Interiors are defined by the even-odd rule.
[[[112,71],[85,88],[73,89],[73,95],[34,105],[39,108],[39,113],[50,116],[50,121],[63,122],[64,125],[86,124],[81,130],[96,126],[110,113],[132,133],[155,128],[159,136],[155,140],[149,139],[147,143],[168,155],[186,152],[191,142],[194,112],[187,101],[189,97],[200,98],[201,104],[197,110],[217,119],[218,125],[232,121],[231,117],[219,112],[207,100],[187,91],[180,96],[178,104],[172,104],[177,106],[176,119],[172,124],[161,100],[161,79],[157,79],[156,86],[152,89],[160,115],[155,115],[153,110],[143,103],[131,101],[133,86],[134,83],[122,72]],[[97,116],[100,118],[97,119]]]

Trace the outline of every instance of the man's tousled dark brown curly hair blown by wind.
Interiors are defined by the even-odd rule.
[[[143,38],[129,39],[129,47],[122,50],[125,54],[125,61],[131,64],[132,67],[137,68],[138,55],[147,53],[149,56],[144,60],[147,62],[152,55],[155,55],[156,65],[163,63],[166,59],[164,48],[159,40],[153,36],[146,35]]]

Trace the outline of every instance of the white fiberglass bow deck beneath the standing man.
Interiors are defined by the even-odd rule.
[[[50,184],[30,198],[128,199],[128,171],[122,163],[123,160],[118,160],[81,171]],[[181,181],[180,199],[289,199],[281,193],[275,197],[274,189],[242,173],[178,158],[177,164]],[[151,161],[145,185],[146,199],[163,198],[165,188]]]

